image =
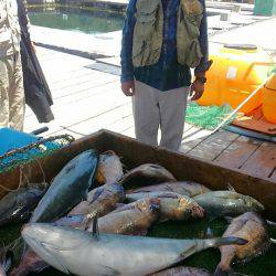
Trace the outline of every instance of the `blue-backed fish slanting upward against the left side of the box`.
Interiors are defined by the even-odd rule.
[[[33,211],[31,222],[52,222],[67,214],[86,199],[94,185],[98,157],[87,150],[73,158],[54,178],[49,190]]]

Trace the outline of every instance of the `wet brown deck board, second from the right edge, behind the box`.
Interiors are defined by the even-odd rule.
[[[241,169],[261,145],[262,141],[257,139],[240,136],[214,159],[214,162],[231,169]]]

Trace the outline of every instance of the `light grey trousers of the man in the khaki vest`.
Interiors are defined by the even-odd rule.
[[[144,83],[135,82],[132,109],[136,138],[145,144],[178,151],[181,145],[187,98],[190,87],[160,92]]]

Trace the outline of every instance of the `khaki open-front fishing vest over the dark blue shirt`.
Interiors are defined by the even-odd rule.
[[[161,0],[137,0],[132,41],[135,67],[156,64],[163,43],[163,8]],[[203,6],[199,0],[180,0],[177,12],[178,62],[189,67],[199,65],[202,53],[199,43]]]

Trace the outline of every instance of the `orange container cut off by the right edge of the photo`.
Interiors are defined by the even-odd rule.
[[[264,87],[263,114],[268,121],[276,124],[276,74]]]

